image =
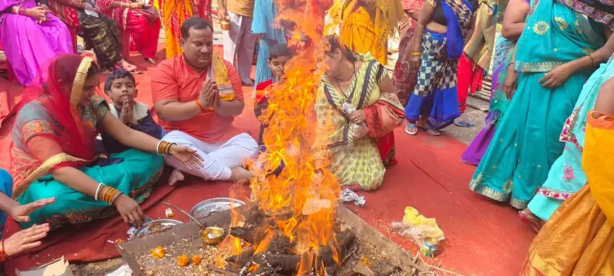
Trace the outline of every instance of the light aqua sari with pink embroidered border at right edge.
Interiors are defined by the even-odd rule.
[[[565,149],[550,168],[546,182],[529,202],[529,211],[541,220],[549,220],[562,201],[578,192],[586,184],[586,174],[582,169],[586,115],[593,110],[603,82],[609,80],[613,75],[614,62],[610,58],[610,61],[601,64],[601,68],[584,84],[574,112],[565,121],[560,134],[560,141],[565,142]]]

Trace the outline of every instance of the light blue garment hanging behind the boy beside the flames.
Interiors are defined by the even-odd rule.
[[[281,29],[275,28],[276,16],[277,7],[275,7],[272,0],[255,0],[251,32],[260,35],[260,46],[258,47],[258,60],[255,66],[254,85],[270,80],[273,77],[268,64],[270,45],[266,39],[274,40],[279,44],[286,43],[284,32]]]

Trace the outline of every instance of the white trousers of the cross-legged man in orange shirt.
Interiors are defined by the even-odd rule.
[[[185,132],[173,130],[164,135],[162,140],[195,149],[205,159],[203,168],[198,170],[189,170],[186,165],[172,156],[165,156],[164,161],[167,165],[204,180],[229,180],[231,168],[241,167],[243,161],[255,157],[258,153],[258,142],[247,133],[236,135],[226,142],[210,144]]]

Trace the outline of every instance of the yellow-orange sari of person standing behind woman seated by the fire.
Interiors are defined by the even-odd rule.
[[[379,63],[388,64],[388,39],[405,16],[401,1],[337,0],[329,15],[327,35],[341,24],[339,37],[345,46],[354,53],[370,53]]]

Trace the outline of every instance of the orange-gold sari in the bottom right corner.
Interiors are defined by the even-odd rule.
[[[614,117],[591,111],[586,120],[588,185],[543,225],[521,275],[614,274]]]

